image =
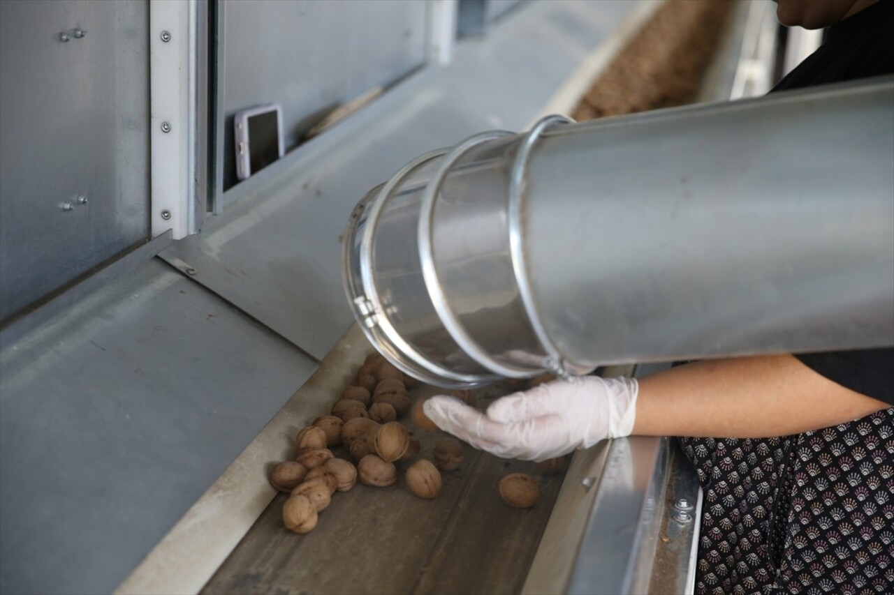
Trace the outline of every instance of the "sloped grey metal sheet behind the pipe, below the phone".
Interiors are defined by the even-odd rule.
[[[634,9],[610,2],[526,6],[484,42],[458,44],[450,68],[414,73],[233,187],[230,208],[163,257],[195,269],[198,282],[312,356],[325,356],[353,323],[340,235],[357,198],[431,147],[485,128],[527,127]]]

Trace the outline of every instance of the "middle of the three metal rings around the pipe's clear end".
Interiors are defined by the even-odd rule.
[[[438,276],[437,267],[434,265],[434,248],[432,241],[432,220],[434,218],[434,199],[437,197],[441,189],[444,178],[450,172],[451,167],[456,163],[462,155],[465,155],[473,147],[485,143],[489,140],[498,138],[506,138],[513,136],[512,132],[505,130],[488,130],[481,132],[472,137],[466,138],[443,159],[443,163],[434,172],[432,180],[426,186],[425,194],[422,196],[422,205],[419,209],[419,229],[418,229],[418,247],[419,260],[422,264],[422,274],[426,280],[426,289],[428,295],[432,299],[435,311],[441,317],[444,328],[451,334],[451,337],[466,354],[472,357],[478,364],[493,373],[501,374],[510,378],[527,378],[530,376],[530,370],[520,371],[503,365],[496,361],[484,349],[482,349],[475,339],[469,336],[466,329],[460,323],[459,318],[453,312],[448,304],[447,297],[441,286],[441,279]],[[495,379],[494,379],[495,380]]]

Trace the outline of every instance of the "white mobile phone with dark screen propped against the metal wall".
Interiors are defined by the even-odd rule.
[[[240,180],[259,172],[285,153],[283,108],[280,105],[258,105],[242,110],[233,116],[233,127],[236,139],[236,177]]]

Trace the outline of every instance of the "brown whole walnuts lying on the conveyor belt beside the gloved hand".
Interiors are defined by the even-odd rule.
[[[397,482],[395,462],[409,462],[421,448],[413,432],[397,420],[412,409],[419,427],[437,430],[422,413],[421,401],[414,406],[409,397],[407,386],[414,383],[384,357],[370,355],[351,386],[342,391],[331,414],[317,417],[299,432],[295,460],[276,465],[270,474],[274,488],[290,493],[283,505],[283,523],[290,531],[312,531],[317,515],[329,506],[335,492],[350,490],[358,480],[376,487]],[[340,446],[356,466],[333,455],[332,449]],[[441,472],[459,467],[464,455],[459,440],[439,440],[434,463],[419,459],[407,467],[409,490],[419,498],[436,498],[441,491]],[[564,458],[538,465],[543,473],[558,473],[563,467]],[[532,475],[511,473],[500,482],[500,495],[510,506],[532,507],[539,487]]]

